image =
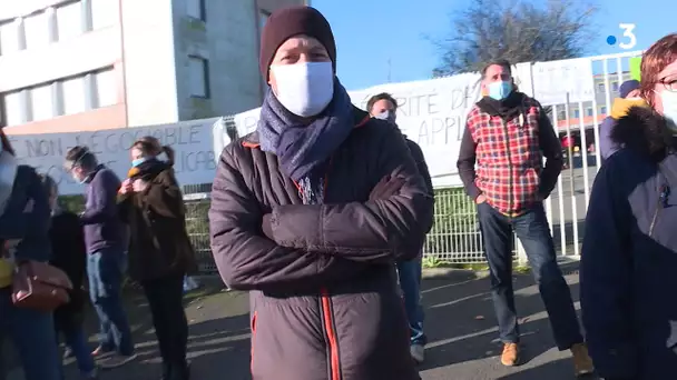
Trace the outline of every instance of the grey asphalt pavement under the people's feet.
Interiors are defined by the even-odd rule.
[[[576,268],[565,269],[578,299]],[[423,380],[569,380],[573,379],[566,352],[553,348],[548,320],[529,276],[516,278],[523,343],[529,361],[518,368],[499,364],[499,344],[485,279],[441,278],[424,281],[423,302],[430,336]],[[138,308],[146,306],[139,301]],[[249,329],[247,294],[218,292],[192,302],[190,358],[196,380],[248,380]],[[139,312],[138,314],[144,314]],[[157,344],[145,321],[135,323],[139,359],[106,372],[102,380],[155,380],[159,377]],[[76,379],[68,366],[67,379]],[[71,378],[72,377],[72,378]],[[14,379],[21,379],[20,377]],[[380,379],[374,379],[380,380]],[[396,380],[396,379],[393,379]]]

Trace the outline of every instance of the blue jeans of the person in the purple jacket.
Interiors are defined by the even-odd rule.
[[[134,353],[131,331],[122,309],[121,287],[126,266],[121,250],[107,249],[90,253],[87,258],[89,297],[100,326],[100,344],[106,351],[120,354]]]

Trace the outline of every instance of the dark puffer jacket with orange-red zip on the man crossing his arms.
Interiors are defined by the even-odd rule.
[[[355,126],[332,157],[325,204],[302,204],[256,133],[220,157],[212,249],[224,281],[252,290],[254,379],[420,379],[393,263],[418,254],[433,199],[394,126],[357,109]],[[385,176],[405,183],[370,201]],[[275,241],[261,228],[269,212]]]

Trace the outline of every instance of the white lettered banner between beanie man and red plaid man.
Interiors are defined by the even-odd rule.
[[[380,92],[398,100],[398,126],[408,138],[421,146],[435,187],[458,186],[457,159],[465,118],[480,99],[480,74],[464,73],[405,83],[351,91],[355,106],[366,109],[366,101]],[[239,136],[256,130],[261,109],[235,116]],[[225,131],[223,132],[225,133]]]

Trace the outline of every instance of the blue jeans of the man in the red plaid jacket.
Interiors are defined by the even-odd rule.
[[[489,262],[491,297],[506,343],[519,342],[520,332],[512,289],[512,230],[529,259],[560,350],[583,341],[569,286],[557,263],[552,236],[542,203],[519,217],[508,217],[489,203],[478,204],[484,253]]]

